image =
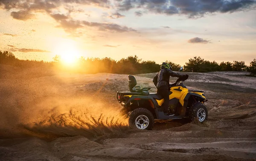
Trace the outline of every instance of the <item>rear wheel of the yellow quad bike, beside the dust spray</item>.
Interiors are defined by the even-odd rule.
[[[133,129],[151,130],[153,125],[154,116],[148,109],[134,109],[129,115],[129,126]]]

